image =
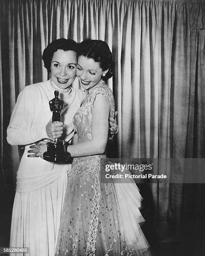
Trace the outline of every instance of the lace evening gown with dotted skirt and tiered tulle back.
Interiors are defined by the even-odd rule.
[[[111,90],[101,82],[73,120],[77,143],[92,139],[92,108],[97,94],[110,102],[110,117],[115,102]],[[100,183],[105,154],[75,157],[68,174],[57,241],[57,255],[150,255],[149,245],[140,229],[144,219],[139,207],[141,196],[135,184]],[[127,253],[126,253],[127,251]],[[124,254],[121,254],[124,253]]]

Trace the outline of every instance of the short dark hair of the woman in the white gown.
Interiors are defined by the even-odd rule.
[[[42,54],[44,67],[47,69],[48,72],[50,72],[52,56],[57,50],[75,51],[76,53],[78,53],[78,44],[72,39],[65,38],[54,40],[50,44],[48,44]]]

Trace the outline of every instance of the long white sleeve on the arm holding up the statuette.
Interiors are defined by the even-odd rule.
[[[20,92],[7,128],[9,144],[26,145],[47,138],[45,125],[33,127],[38,94],[33,85]]]

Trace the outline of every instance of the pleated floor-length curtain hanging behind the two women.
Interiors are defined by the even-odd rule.
[[[26,85],[47,79],[42,51],[57,38],[101,39],[112,50],[113,156],[205,158],[203,0],[2,0],[0,8],[0,154],[8,182],[19,164],[18,148],[6,142],[10,115]],[[142,193],[160,237],[181,234],[193,207],[186,220],[197,223],[205,204],[203,185],[148,184]]]

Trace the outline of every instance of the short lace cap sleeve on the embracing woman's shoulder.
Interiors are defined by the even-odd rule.
[[[102,94],[108,98],[110,103],[110,117],[113,118],[115,115],[115,100],[112,91],[106,84],[103,84],[102,86],[97,87],[95,90],[93,90],[92,95],[90,97],[91,111],[95,102],[95,98],[98,94]]]

